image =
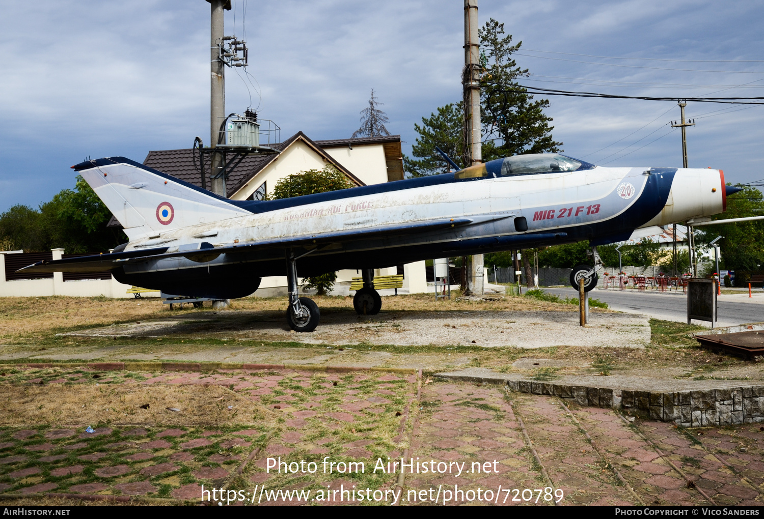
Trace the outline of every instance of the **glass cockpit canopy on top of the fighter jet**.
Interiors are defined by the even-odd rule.
[[[455,173],[456,179],[475,179],[481,177],[497,178],[500,176],[532,175],[534,173],[578,171],[592,169],[594,164],[585,163],[559,153],[529,153],[527,155],[508,156],[505,159],[490,160],[476,164]]]

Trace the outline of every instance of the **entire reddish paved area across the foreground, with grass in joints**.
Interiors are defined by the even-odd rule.
[[[551,505],[554,491],[564,493],[559,504],[764,502],[761,424],[695,430],[639,419],[630,424],[606,409],[569,406],[571,415],[553,397],[461,382],[424,381],[417,401],[415,376],[385,372],[17,369],[2,379],[18,388],[99,383],[115,391],[132,385],[222,385],[268,414],[225,427],[5,427],[0,499],[2,493],[45,492],[198,499],[201,485],[312,495],[370,488],[382,495],[396,488],[397,474],[372,472],[374,462],[400,460],[405,452],[420,466],[406,475],[402,504],[444,498],[448,504],[529,504],[538,498]],[[88,425],[95,432],[86,433]],[[366,471],[325,474],[325,456],[335,463],[363,462]],[[294,468],[303,459],[314,461],[317,470],[266,472],[269,457]],[[526,488],[542,492],[529,498]],[[293,497],[286,504],[304,502]]]

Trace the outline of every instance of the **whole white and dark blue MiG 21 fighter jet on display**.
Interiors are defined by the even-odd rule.
[[[354,307],[376,314],[374,269],[579,240],[596,247],[639,227],[720,213],[739,191],[720,169],[606,168],[557,153],[274,201],[222,198],[121,156],[72,167],[130,241],[112,253],[21,270],[111,270],[128,285],[220,299],[250,295],[263,276],[286,275],[286,320],[296,331],[319,323],[316,303],[298,295],[298,273],[360,269]],[[574,276],[588,289],[597,281],[591,266]]]

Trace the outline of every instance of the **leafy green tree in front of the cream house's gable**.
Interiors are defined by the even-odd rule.
[[[284,177],[277,182],[270,199],[292,198],[351,187],[353,183],[345,176],[345,173],[332,165],[327,165],[322,170],[308,169]],[[337,272],[326,272],[321,276],[303,279],[303,286],[306,289],[317,289],[318,295],[326,295],[327,292],[332,292],[336,280]]]

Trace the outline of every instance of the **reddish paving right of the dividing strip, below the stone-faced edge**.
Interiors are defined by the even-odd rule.
[[[684,430],[571,407],[577,424],[557,398],[469,383],[426,385],[422,402],[413,456],[453,456],[468,466],[497,459],[500,469],[458,478],[417,475],[406,480],[414,488],[542,488],[551,480],[565,492],[561,504],[764,504],[761,424]],[[518,497],[511,504],[523,503]]]

